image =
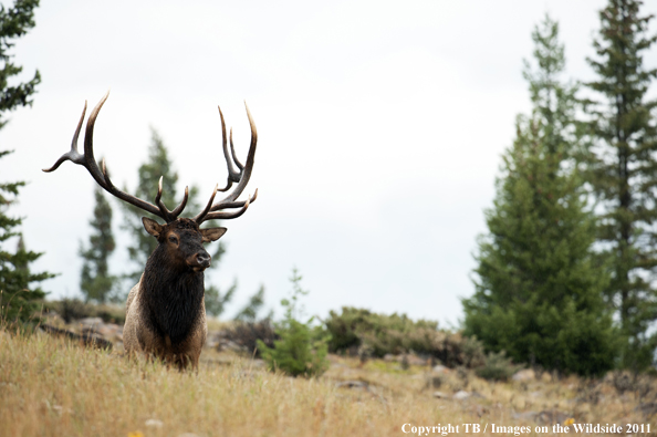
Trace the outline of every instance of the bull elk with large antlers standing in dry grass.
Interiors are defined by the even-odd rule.
[[[238,200],[253,170],[258,142],[255,124],[247,106],[247,116],[251,126],[251,145],[247,162],[242,165],[236,157],[232,129],[230,131],[230,154],[228,152],[226,123],[219,108],[223,156],[228,166],[227,185],[222,189],[219,189],[219,185],[215,186],[208,205],[196,217],[178,218],[187,204],[189,195],[187,187],[180,205],[169,211],[161,201],[161,178],[155,205],[153,205],[116,188],[109,179],[104,159],[101,165],[102,170],[98,168],[93,150],[94,124],[108,95],[109,92],[94,107],[86,122],[84,154],[81,155],[77,152],[77,137],[86,113],[86,102],[73,135],[71,150],[43,171],[54,171],[65,160],[82,165],[105,191],[166,222],[160,225],[153,219],[142,218],[146,232],[157,239],[158,246],[148,258],[139,282],[128,294],[123,333],[124,346],[128,355],[144,353],[150,358],[158,357],[180,370],[187,367],[189,363],[194,368],[198,368],[198,360],[208,331],[204,301],[204,270],[210,266],[211,259],[202,243],[216,241],[226,233],[226,228],[201,229],[200,225],[211,219],[240,217],[255,200],[258,190],[253,197],[248,196],[246,200]],[[233,183],[237,184],[234,189],[221,201],[215,204],[217,193],[230,190]]]

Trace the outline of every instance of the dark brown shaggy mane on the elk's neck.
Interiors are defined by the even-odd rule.
[[[200,321],[204,272],[169,269],[166,258],[167,251],[161,244],[148,258],[139,299],[146,310],[146,324],[178,344]]]

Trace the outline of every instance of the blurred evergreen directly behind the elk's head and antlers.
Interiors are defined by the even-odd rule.
[[[135,195],[140,199],[155,199],[159,178],[163,177],[163,195],[161,200],[169,208],[175,208],[180,200],[181,196],[178,196],[178,174],[174,170],[174,165],[168,156],[168,150],[164,144],[161,137],[155,129],[152,129],[152,143],[148,153],[148,160],[139,167],[138,185]],[[127,189],[124,188],[127,193]],[[132,205],[122,202],[121,204],[125,211],[125,220],[123,229],[126,229],[133,237],[134,243],[128,247],[129,259],[134,261],[135,270],[126,277],[135,284],[139,281],[146,260],[150,257],[150,253],[157,247],[157,240],[144,230],[142,223],[142,217],[146,216],[156,221],[161,221],[159,217],[153,216],[143,209],[134,207]],[[205,206],[205,202],[204,202]],[[200,204],[198,201],[198,188],[191,186],[189,188],[189,198],[187,201],[186,211],[200,211]],[[185,212],[182,214],[185,215]],[[217,220],[206,221],[206,227],[218,227]],[[212,256],[212,263],[209,268],[216,269],[219,266],[221,256],[226,251],[223,244],[219,242],[213,246],[216,248]],[[218,288],[209,285],[206,290],[206,310],[209,314],[219,315],[229,300],[234,293],[234,288],[229,289],[226,293],[221,293]]]

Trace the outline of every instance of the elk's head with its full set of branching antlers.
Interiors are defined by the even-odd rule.
[[[166,222],[166,225],[159,225],[157,221],[146,217],[142,219],[146,231],[158,240],[158,249],[160,247],[164,248],[163,250],[166,250],[170,254],[169,258],[175,266],[181,269],[192,269],[194,271],[205,270],[210,266],[210,256],[202,248],[201,242],[216,241],[223,233],[226,233],[226,228],[200,229],[199,226],[206,220],[233,219],[240,217],[242,214],[244,214],[247,208],[249,208],[249,205],[258,197],[258,189],[255,189],[253,197],[248,196],[246,200],[237,200],[244,190],[247,184],[249,183],[249,178],[251,177],[255,158],[255,145],[258,143],[258,132],[255,131],[255,124],[253,123],[249,107],[247,106],[247,116],[249,117],[249,124],[251,126],[251,145],[249,147],[249,154],[247,155],[247,162],[244,165],[242,165],[236,157],[234,146],[232,143],[232,129],[230,129],[230,154],[228,152],[226,123],[223,121],[221,108],[219,108],[219,116],[221,118],[221,134],[223,138],[223,156],[228,167],[228,180],[225,188],[220,189],[219,185],[215,186],[208,205],[196,217],[188,219],[178,218],[187,205],[187,199],[189,196],[188,187],[185,187],[185,196],[180,204],[173,210],[169,210],[161,201],[161,177],[159,179],[159,187],[155,197],[155,205],[153,205],[116,188],[116,186],[114,186],[109,179],[107,168],[105,167],[105,159],[103,159],[101,165],[102,170],[98,168],[98,165],[94,158],[93,149],[94,124],[96,123],[96,117],[98,116],[98,113],[101,112],[101,108],[108,96],[109,92],[107,92],[103,98],[101,98],[98,104],[92,111],[88,121],[86,122],[86,131],[84,134],[84,154],[80,154],[77,152],[77,138],[80,136],[80,131],[82,129],[82,123],[86,113],[86,101],[84,102],[84,110],[82,111],[82,116],[77,123],[77,128],[73,135],[71,150],[62,155],[52,167],[45,168],[43,171],[54,171],[65,160],[71,160],[74,164],[83,166],[87,169],[96,184],[98,184],[105,191],[125,202],[128,202],[139,209],[161,218]],[[222,200],[215,204],[215,196],[217,193],[230,190],[233,183],[237,185],[232,193],[230,193]],[[232,211],[230,211],[231,209]]]

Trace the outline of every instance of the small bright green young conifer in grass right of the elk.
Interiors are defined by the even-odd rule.
[[[326,354],[328,353],[328,336],[322,326],[313,326],[314,318],[307,322],[300,322],[303,310],[299,308],[299,298],[307,294],[301,289],[301,279],[296,269],[292,270],[291,298],[283,299],[281,304],[285,309],[282,322],[275,324],[275,333],[280,340],[270,347],[258,340],[258,348],[262,358],[271,371],[282,371],[291,376],[319,376],[328,368]]]

